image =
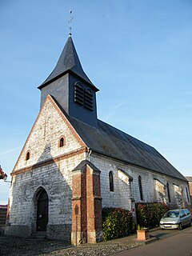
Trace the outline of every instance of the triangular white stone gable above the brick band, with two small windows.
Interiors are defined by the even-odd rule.
[[[33,166],[38,162],[77,150],[81,146],[77,138],[71,134],[73,128],[70,129],[66,118],[59,114],[59,111],[55,109],[50,98],[47,98],[14,170]],[[59,147],[58,142],[62,135],[66,138],[66,145]],[[26,160],[27,151],[30,151],[29,160]]]

